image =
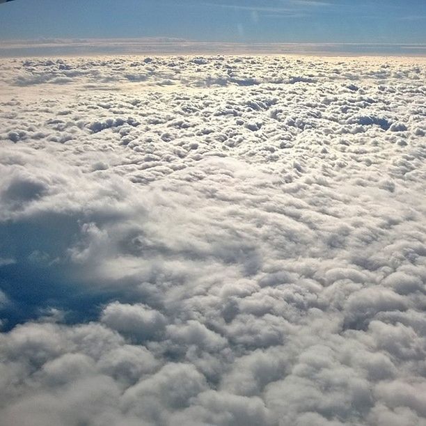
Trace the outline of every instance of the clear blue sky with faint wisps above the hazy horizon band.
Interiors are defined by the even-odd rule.
[[[0,40],[425,43],[425,0],[16,0]]]

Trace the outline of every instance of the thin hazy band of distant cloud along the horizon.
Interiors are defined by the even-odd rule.
[[[426,56],[425,43],[226,42],[182,38],[40,38],[3,40],[0,57],[88,55],[301,54]]]

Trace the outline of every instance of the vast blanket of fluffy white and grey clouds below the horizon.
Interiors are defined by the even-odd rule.
[[[425,426],[425,78],[1,60],[0,423]]]

